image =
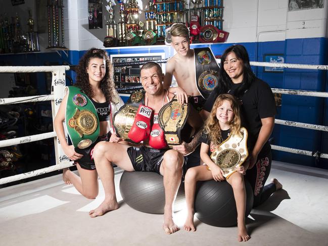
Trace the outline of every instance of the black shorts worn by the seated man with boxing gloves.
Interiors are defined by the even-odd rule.
[[[156,150],[151,147],[129,147],[127,154],[135,171],[156,172],[160,174],[160,167],[166,150]]]

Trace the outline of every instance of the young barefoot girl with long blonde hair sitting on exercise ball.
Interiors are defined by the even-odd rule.
[[[205,122],[204,131],[200,138],[202,142],[201,159],[206,165],[190,168],[184,179],[185,199],[188,209],[188,216],[184,224],[186,231],[196,230],[194,225],[194,201],[197,181],[211,179],[223,181],[225,179],[223,170],[211,160],[211,153],[229,134],[239,134],[240,128],[241,117],[237,100],[230,94],[219,95],[210,116]],[[239,241],[247,241],[250,238],[245,225],[246,191],[243,177],[246,174],[247,165],[248,163],[244,163],[243,166],[237,167],[237,172],[231,174],[226,180],[232,186],[236,200]]]

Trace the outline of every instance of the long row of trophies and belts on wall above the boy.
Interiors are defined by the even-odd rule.
[[[143,11],[144,22],[139,22],[142,12],[136,0],[120,1],[117,24],[112,1],[108,1],[105,47],[164,44],[167,28],[174,23],[188,23],[196,43],[224,42],[228,35],[222,31],[220,0],[191,0],[194,8],[190,9],[186,9],[184,0],[149,0]]]

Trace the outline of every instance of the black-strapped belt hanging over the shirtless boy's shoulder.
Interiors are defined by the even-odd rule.
[[[196,85],[204,97],[210,95],[219,82],[219,65],[209,47],[194,48],[196,63]]]

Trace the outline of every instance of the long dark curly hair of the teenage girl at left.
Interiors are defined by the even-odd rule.
[[[114,98],[114,88],[115,88],[115,84],[113,81],[114,67],[109,60],[109,56],[107,52],[104,50],[90,48],[90,50],[88,50],[83,55],[76,69],[77,75],[76,75],[76,83],[74,85],[81,88],[87,96],[89,97],[93,96],[93,91],[89,84],[89,76],[86,73],[86,69],[89,65],[89,61],[91,58],[101,58],[101,59],[105,59],[106,61],[106,73],[105,73],[105,77],[100,82],[100,88],[106,97],[106,102],[112,102],[112,99]]]

